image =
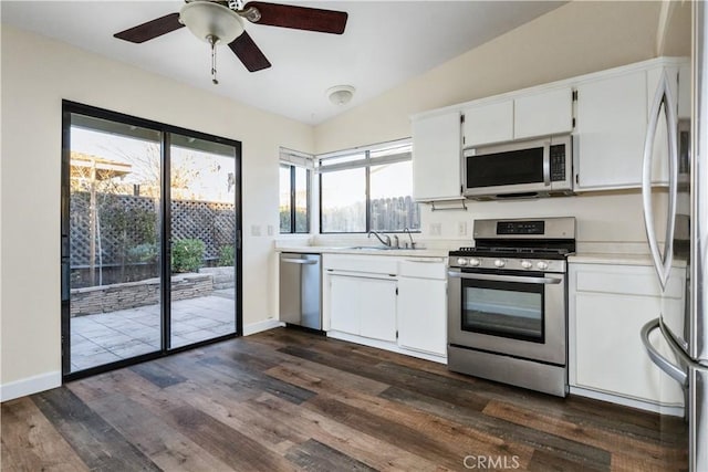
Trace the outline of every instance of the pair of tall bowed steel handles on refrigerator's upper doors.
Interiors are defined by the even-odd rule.
[[[654,230],[654,207],[652,204],[652,167],[654,139],[656,137],[656,128],[659,122],[659,114],[664,105],[666,114],[667,135],[668,135],[668,212],[666,221],[666,237],[664,240],[664,253],[659,251]],[[646,229],[647,240],[649,242],[649,251],[654,261],[654,269],[662,284],[662,289],[666,287],[668,276],[674,262],[674,227],[676,222],[676,193],[678,189],[678,147],[677,147],[677,127],[678,119],[676,117],[676,101],[671,93],[666,72],[662,73],[659,85],[656,88],[652,111],[649,112],[649,123],[647,124],[646,137],[644,140],[644,165],[642,172],[642,200],[644,210],[644,224]]]

